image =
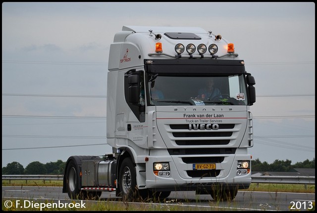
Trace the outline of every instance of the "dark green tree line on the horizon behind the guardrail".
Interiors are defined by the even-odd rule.
[[[260,159],[251,160],[252,171],[258,172],[291,172],[294,168],[310,168],[315,169],[315,157],[313,160],[305,160],[291,164],[291,160],[275,160],[268,164],[263,163]],[[57,160],[56,162],[49,162],[43,164],[39,161],[29,163],[25,168],[18,162],[8,163],[2,167],[2,175],[63,175],[66,162]]]

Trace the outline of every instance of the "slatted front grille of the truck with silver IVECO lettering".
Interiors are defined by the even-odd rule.
[[[226,172],[223,174],[220,171],[230,166],[226,158],[232,158],[237,150],[236,142],[241,128],[240,123],[165,124],[164,128],[167,131],[167,139],[171,141],[167,151],[175,160],[181,162],[183,178],[207,180],[219,177],[220,174],[226,175]],[[216,169],[189,168],[193,164],[208,163],[217,164]]]

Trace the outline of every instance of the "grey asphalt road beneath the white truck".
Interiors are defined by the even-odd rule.
[[[10,205],[8,200],[12,199],[30,199],[37,202],[42,200],[71,202],[67,193],[62,193],[61,187],[2,186],[2,204],[4,204],[4,208]],[[120,198],[115,197],[115,192],[103,192],[100,200],[120,202]],[[75,201],[79,207],[80,204],[83,205],[88,202],[94,201]],[[308,211],[312,202],[315,203],[315,194],[306,193],[239,191],[236,198],[231,202],[214,202],[210,195],[195,195],[195,192],[172,192],[165,202],[161,202],[159,205],[197,207],[201,211],[215,209],[220,211]],[[149,203],[149,205],[157,204],[155,202]],[[23,204],[19,203],[19,205],[22,208]]]

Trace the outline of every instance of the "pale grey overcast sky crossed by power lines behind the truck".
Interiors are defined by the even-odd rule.
[[[315,158],[314,2],[3,2],[2,167],[111,153],[107,63],[124,25],[234,43],[256,80],[252,159]]]

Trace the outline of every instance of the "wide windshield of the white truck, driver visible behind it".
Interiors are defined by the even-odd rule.
[[[148,103],[176,105],[247,105],[243,74],[230,76],[161,76],[149,81]]]

